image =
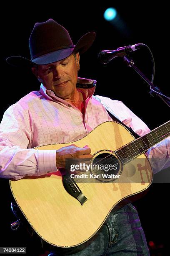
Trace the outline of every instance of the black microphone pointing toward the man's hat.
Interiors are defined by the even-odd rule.
[[[103,50],[103,51],[100,51],[100,53],[98,54],[98,59],[100,63],[107,64],[112,59],[116,57],[126,56],[129,52],[136,51],[143,46],[145,46],[145,44],[133,44],[130,46],[119,47],[113,51]]]

